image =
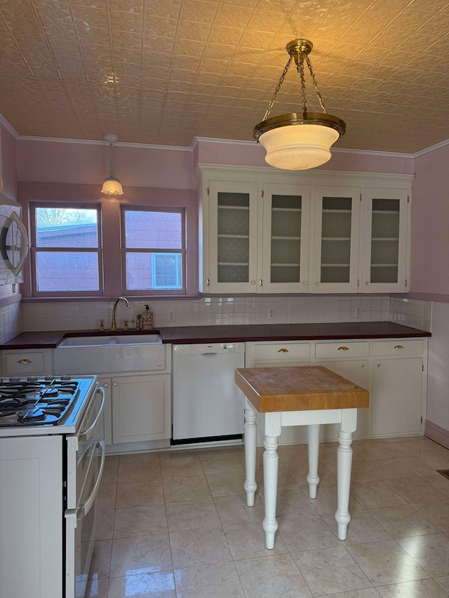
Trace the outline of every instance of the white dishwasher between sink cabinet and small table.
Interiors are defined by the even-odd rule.
[[[243,434],[245,397],[234,370],[245,343],[173,345],[173,440],[233,440]]]

